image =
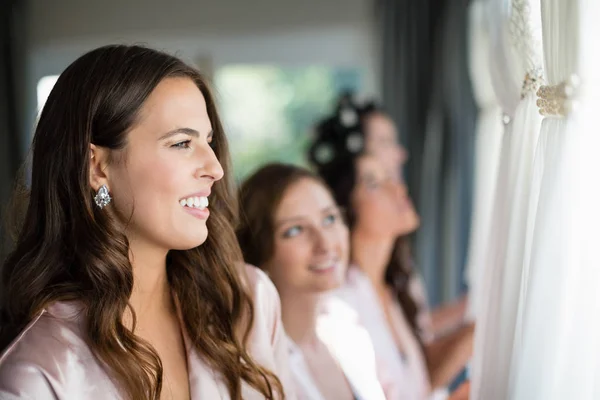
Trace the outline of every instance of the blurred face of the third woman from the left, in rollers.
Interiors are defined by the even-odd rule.
[[[391,177],[375,156],[360,157],[355,168],[356,184],[352,192],[355,229],[377,237],[414,232],[419,217],[406,185]]]

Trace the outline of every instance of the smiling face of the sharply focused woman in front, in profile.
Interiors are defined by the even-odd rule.
[[[184,250],[204,243],[211,187],[223,177],[212,140],[204,96],[194,82],[163,80],[105,171],[109,207],[126,223],[130,244]],[[92,181],[93,187],[101,183]]]

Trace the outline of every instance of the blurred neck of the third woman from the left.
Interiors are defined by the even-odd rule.
[[[352,263],[367,275],[376,289],[385,287],[385,271],[394,251],[395,238],[374,238],[360,231],[351,235]]]

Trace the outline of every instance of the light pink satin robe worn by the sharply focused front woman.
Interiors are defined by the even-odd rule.
[[[250,353],[279,376],[287,398],[294,399],[277,291],[260,270],[247,266],[246,271],[255,307]],[[123,398],[117,383],[87,346],[83,322],[77,303],[57,302],[43,310],[0,356],[0,399]],[[224,381],[191,348],[185,333],[184,339],[191,398],[229,399]],[[246,383],[242,386],[245,400],[263,399]]]

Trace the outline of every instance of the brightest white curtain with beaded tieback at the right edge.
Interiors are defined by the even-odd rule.
[[[600,6],[542,5],[550,86],[540,91],[546,119],[536,158],[539,197],[511,398],[592,400],[600,398]]]

